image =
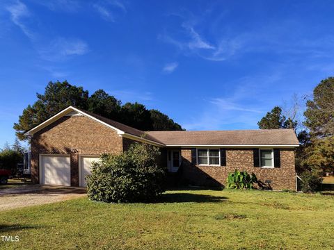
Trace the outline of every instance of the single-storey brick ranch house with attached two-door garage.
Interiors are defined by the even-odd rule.
[[[296,189],[292,129],[143,132],[72,106],[31,128],[33,183],[85,186],[102,153],[121,153],[134,142],[161,149],[160,164],[193,185],[225,185],[234,169],[254,172],[273,189]]]

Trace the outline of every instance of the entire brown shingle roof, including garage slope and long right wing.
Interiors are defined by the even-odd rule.
[[[118,128],[130,135],[143,137],[160,144],[177,145],[298,145],[293,129],[258,129],[236,131],[148,131],[144,132],[96,115],[81,108],[76,108],[100,121]]]

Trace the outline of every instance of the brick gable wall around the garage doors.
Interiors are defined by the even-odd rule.
[[[62,117],[31,139],[31,178],[39,183],[39,154],[69,154],[71,185],[79,185],[79,156],[122,152],[122,138],[87,117]]]

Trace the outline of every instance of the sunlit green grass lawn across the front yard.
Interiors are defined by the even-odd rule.
[[[334,249],[333,196],[177,190],[158,203],[86,198],[0,213],[2,249]]]

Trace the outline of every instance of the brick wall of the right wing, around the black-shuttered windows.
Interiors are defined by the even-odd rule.
[[[228,173],[239,169],[246,170],[248,173],[254,172],[263,183],[270,180],[273,189],[296,189],[293,149],[281,149],[281,167],[273,169],[254,167],[253,149],[226,149],[226,166],[224,167],[191,165],[191,149],[182,149],[182,163],[184,178],[194,185],[225,185]]]

